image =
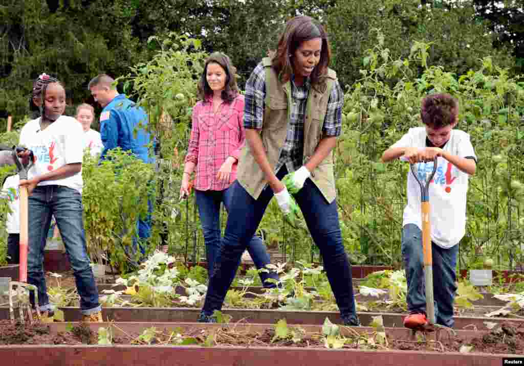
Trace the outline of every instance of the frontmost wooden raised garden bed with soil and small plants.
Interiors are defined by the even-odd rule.
[[[2,327],[2,325],[0,325]],[[96,343],[100,327],[111,328],[110,346]],[[151,330],[151,327],[155,329]],[[524,349],[524,331],[505,324],[494,331],[457,331],[454,336],[435,332],[413,340],[407,329],[383,329],[387,341],[376,342],[376,328],[340,329],[341,349],[325,348],[320,326],[288,327],[293,335],[276,337],[267,325],[211,325],[166,323],[49,324],[19,328],[5,325],[0,340],[26,345],[0,346],[5,364],[16,365],[294,365],[318,366],[380,364],[409,366],[501,365]],[[149,329],[149,331],[147,331]],[[501,332],[504,341],[497,341]],[[140,337],[146,335],[147,337]],[[280,334],[280,333],[279,333]],[[298,336],[297,336],[298,334]],[[281,335],[281,334],[280,334]],[[211,339],[211,340],[210,340]],[[294,340],[292,340],[294,339]],[[378,339],[378,338],[376,338]],[[191,340],[194,346],[173,346]],[[52,346],[42,344],[52,343]],[[64,345],[64,343],[69,345]],[[138,343],[139,345],[129,345]],[[463,346],[472,347],[470,352]],[[205,348],[203,348],[205,347]],[[428,364],[429,363],[429,364]]]

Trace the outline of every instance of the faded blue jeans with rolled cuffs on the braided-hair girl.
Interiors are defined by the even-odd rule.
[[[27,282],[38,288],[40,310],[52,309],[43,272],[43,254],[45,237],[53,215],[57,220],[65,252],[73,269],[82,314],[99,312],[101,307],[98,289],[85,246],[82,195],[77,190],[65,186],[37,186],[29,197],[28,206]],[[32,292],[30,301],[31,304],[35,304]]]

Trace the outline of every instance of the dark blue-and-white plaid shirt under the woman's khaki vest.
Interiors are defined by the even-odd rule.
[[[275,173],[286,165],[288,172],[299,169],[303,163],[304,119],[311,84],[309,79],[304,85],[297,86],[291,81],[292,106],[288,133],[282,147]],[[266,98],[266,71],[260,62],[246,83],[244,128],[261,129],[264,125],[264,109]],[[340,136],[342,131],[342,106],[344,93],[338,81],[335,81],[328,102],[322,132],[324,136]]]

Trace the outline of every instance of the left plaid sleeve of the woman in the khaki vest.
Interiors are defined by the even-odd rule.
[[[246,82],[244,95],[244,128],[261,129],[264,125],[266,71],[260,62]]]

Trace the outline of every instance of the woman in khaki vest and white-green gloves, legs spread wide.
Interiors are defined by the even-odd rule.
[[[291,212],[293,194],[319,247],[345,325],[359,325],[351,265],[344,250],[336,205],[332,150],[342,129],[344,95],[329,69],[323,27],[310,17],[288,21],[276,52],[246,83],[246,146],[233,183],[232,205],[220,257],[199,321],[213,322],[247,243],[270,199]],[[282,179],[286,176],[288,188]]]

